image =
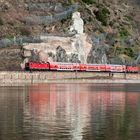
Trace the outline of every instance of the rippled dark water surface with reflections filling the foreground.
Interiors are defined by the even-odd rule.
[[[0,140],[140,140],[140,86],[0,87]]]

